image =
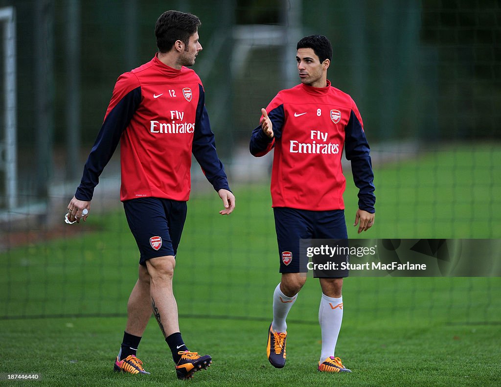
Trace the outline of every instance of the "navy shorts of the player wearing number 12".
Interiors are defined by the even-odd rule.
[[[125,217],[141,253],[139,263],[176,255],[186,220],[186,202],[138,198],[124,202]]]

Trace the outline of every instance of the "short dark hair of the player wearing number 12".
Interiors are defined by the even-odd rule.
[[[166,53],[170,51],[176,40],[180,40],[186,46],[189,37],[198,30],[202,23],[195,15],[179,11],[165,11],[155,24],[155,36],[158,51]]]

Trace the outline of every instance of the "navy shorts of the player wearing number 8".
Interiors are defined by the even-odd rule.
[[[344,210],[309,211],[275,207],[273,213],[281,273],[308,272],[308,262],[301,260],[300,264],[301,239],[348,239]]]

